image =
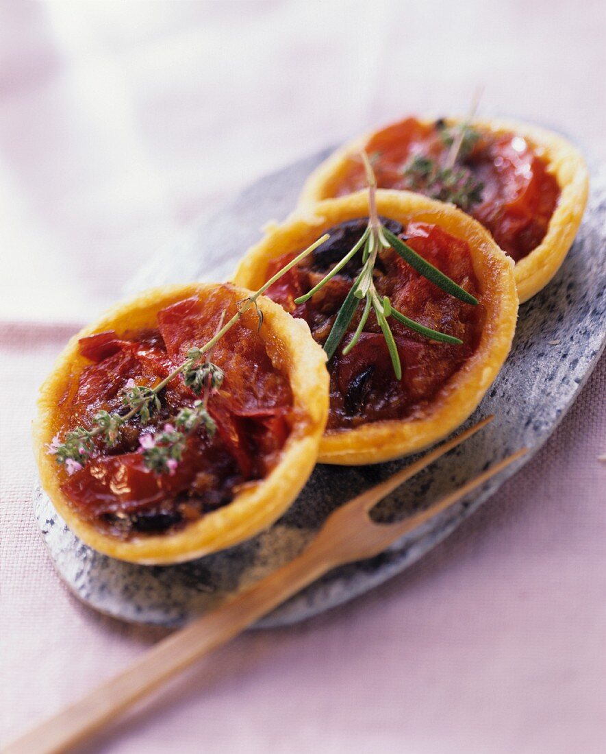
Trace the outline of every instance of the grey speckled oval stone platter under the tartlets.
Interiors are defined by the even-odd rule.
[[[148,285],[229,277],[239,256],[260,238],[261,226],[288,215],[303,180],[324,156],[300,161],[251,186],[142,271],[129,292]],[[513,351],[469,423],[490,413],[495,421],[382,501],[376,516],[390,520],[418,510],[522,446],[531,451],[524,459],[528,461],[570,408],[604,340],[606,168],[596,166],[574,247],[552,283],[520,308]],[[96,553],[72,535],[39,488],[34,494],[35,515],[59,575],[80,599],[125,621],[178,626],[288,562],[333,508],[408,463],[410,458],[367,467],[320,465],[271,529],[230,550],[179,566],[134,566]],[[520,463],[382,555],[330,572],[258,625],[300,621],[386,581],[443,540]]]

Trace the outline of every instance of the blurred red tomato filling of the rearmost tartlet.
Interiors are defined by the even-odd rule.
[[[425,124],[407,118],[374,134],[366,150],[379,188],[428,193],[414,185],[405,168],[414,155],[443,164],[449,152],[441,136],[443,128],[443,121]],[[481,201],[466,211],[489,229],[501,249],[518,262],[541,244],[560,191],[545,161],[525,139],[513,133],[483,131],[457,165],[482,184]],[[350,194],[366,185],[361,161],[351,158],[328,195]]]

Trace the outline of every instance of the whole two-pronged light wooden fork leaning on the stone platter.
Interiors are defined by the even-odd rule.
[[[460,489],[405,520],[379,524],[373,523],[368,515],[379,500],[485,427],[492,418],[483,419],[385,482],[337,508],[300,556],[220,605],[209,615],[197,618],[184,629],[158,642],[122,673],[9,744],[5,754],[56,754],[89,740],[105,723],[114,721],[137,700],[150,694],[175,673],[233,639],[321,575],[336,566],[378,555],[403,535],[460,501],[468,492],[477,489],[520,458],[526,449],[513,453]]]

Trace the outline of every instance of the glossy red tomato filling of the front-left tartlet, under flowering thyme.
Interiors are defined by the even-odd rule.
[[[153,387],[182,363],[187,350],[215,334],[224,308],[235,311],[234,294],[219,289],[203,301],[184,299],[157,314],[153,329],[118,335],[114,331],[81,339],[90,363],[65,389],[60,402],[61,436],[88,427],[100,409],[125,412],[121,391],[129,379]],[[175,529],[229,503],[239,486],[260,480],[276,464],[291,431],[292,394],[287,377],[272,363],[257,334],[257,316],[246,312],[218,342],[212,355],[225,379],[211,395],[209,413],[217,431],[199,428],[175,473],[145,467],[139,438],[163,428],[196,395],[179,375],[160,391],[162,408],[148,425],[129,420],[113,449],[96,443],[82,470],[65,477],[62,491],[88,520],[114,535]]]

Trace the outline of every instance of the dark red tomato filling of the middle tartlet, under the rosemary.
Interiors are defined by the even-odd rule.
[[[388,228],[402,234],[400,223],[385,221]],[[267,295],[279,302],[294,317],[303,317],[312,336],[324,344],[343,304],[354,277],[361,269],[361,254],[355,256],[308,302],[297,305],[294,299],[321,280],[358,241],[367,219],[355,220],[330,228],[330,240],[312,256],[276,281]],[[481,299],[469,247],[436,225],[411,222],[406,228],[407,244],[431,264],[440,268],[461,287]],[[271,277],[296,256],[299,250],[273,259],[266,271]],[[393,250],[385,250],[376,265],[375,285],[382,296],[402,314],[419,323],[460,338],[463,345],[429,341],[389,320],[403,375],[394,376],[385,339],[374,314],[370,314],[364,333],[347,356],[343,348],[358,326],[362,306],[349,326],[349,333],[328,363],[330,372],[330,412],[328,429],[355,428],[370,421],[401,419],[422,415],[440,388],[461,368],[476,350],[483,329],[484,307],[458,301],[421,277]]]

